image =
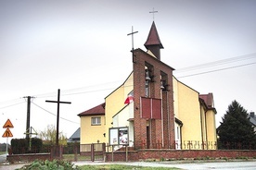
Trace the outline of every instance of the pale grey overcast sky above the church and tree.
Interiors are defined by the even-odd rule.
[[[71,104],[60,105],[59,128],[70,138],[77,115],[132,72],[132,26],[134,48],[146,50],[153,7],[161,61],[195,91],[213,93],[216,125],[233,100],[255,112],[255,0],[0,0],[0,126],[9,118],[14,138],[25,137],[25,96],[34,97],[32,128],[56,125],[57,104],[45,100],[60,89]]]

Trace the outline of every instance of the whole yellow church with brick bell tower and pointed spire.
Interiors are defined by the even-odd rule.
[[[79,114],[81,144],[105,142],[115,150],[216,150],[213,95],[199,94],[173,76],[160,60],[163,45],[153,21],[145,42],[134,49],[133,71],[105,103]]]

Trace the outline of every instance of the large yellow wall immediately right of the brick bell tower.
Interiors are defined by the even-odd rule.
[[[187,87],[180,81],[177,82],[177,93],[175,106],[178,107],[178,115],[176,116],[183,122],[182,141],[202,140],[201,139],[201,117],[200,106],[198,101],[198,91]]]

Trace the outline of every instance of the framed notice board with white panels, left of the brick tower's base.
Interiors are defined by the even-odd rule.
[[[110,145],[128,145],[129,144],[128,128],[109,128]]]

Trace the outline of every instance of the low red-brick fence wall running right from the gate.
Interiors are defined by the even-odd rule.
[[[147,161],[181,159],[236,159],[256,158],[256,150],[139,150],[106,152],[106,162],[111,161]]]

